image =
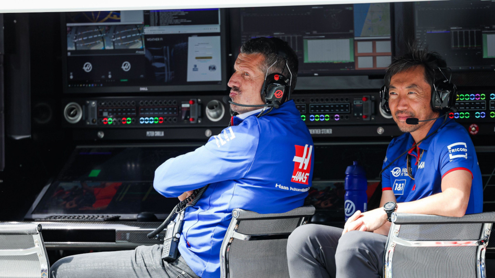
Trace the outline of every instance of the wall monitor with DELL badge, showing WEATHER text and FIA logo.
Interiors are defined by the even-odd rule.
[[[62,14],[65,93],[226,88],[218,8]]]

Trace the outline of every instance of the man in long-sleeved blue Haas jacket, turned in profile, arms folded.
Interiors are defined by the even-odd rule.
[[[280,39],[254,39],[244,44],[234,69],[228,85],[237,103],[231,109],[237,116],[232,117],[231,126],[155,171],[154,188],[181,201],[209,184],[197,204],[185,210],[178,259],[163,261],[163,245],[82,254],[57,261],[53,277],[217,278],[220,247],[232,210],[283,213],[303,205],[311,186],[313,140],[294,101],[283,101],[290,93],[288,87],[276,93],[279,107],[271,110],[263,88],[265,83],[278,82],[294,90],[294,50]],[[265,82],[271,74],[279,80]]]

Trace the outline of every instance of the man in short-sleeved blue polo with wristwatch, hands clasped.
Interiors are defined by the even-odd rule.
[[[434,101],[441,83],[448,82],[446,62],[438,53],[411,50],[387,68],[382,88],[388,101],[384,104],[405,134],[387,149],[380,208],[356,211],[344,229],[313,224],[297,228],[287,245],[291,277],[382,277],[393,212],[454,217],[482,212],[473,143]],[[410,125],[408,118],[438,119]]]

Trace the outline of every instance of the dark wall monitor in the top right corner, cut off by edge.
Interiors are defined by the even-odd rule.
[[[414,3],[416,41],[439,52],[452,71],[494,71],[495,2]]]

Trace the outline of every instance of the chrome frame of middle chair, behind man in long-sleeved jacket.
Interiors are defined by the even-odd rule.
[[[308,212],[309,210],[309,212]],[[268,220],[268,219],[284,219],[284,218],[297,218],[299,221],[297,227],[304,225],[308,222],[309,218],[314,214],[315,208],[313,206],[303,206],[295,208],[286,213],[271,213],[271,214],[258,214],[252,211],[243,209],[234,209],[232,211],[232,220],[229,228],[225,234],[220,249],[220,277],[229,278],[229,249],[234,240],[267,240],[267,239],[283,239],[289,238],[292,232],[285,233],[263,233],[263,234],[243,234],[237,232],[239,223],[243,220]],[[242,214],[249,214],[249,217],[243,217]],[[296,227],[296,228],[297,228]],[[284,254],[285,255],[285,254]]]

